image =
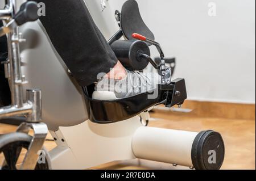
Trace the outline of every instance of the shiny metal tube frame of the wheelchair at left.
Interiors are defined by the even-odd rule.
[[[26,3],[26,6],[29,5],[32,4]],[[34,3],[33,5],[37,7],[37,4]],[[42,120],[41,91],[39,89],[29,89],[26,91],[26,101],[23,100],[23,85],[27,82],[21,71],[20,43],[26,40],[22,38],[22,33],[19,32],[18,27],[21,24],[17,21],[18,18],[24,17],[16,16],[18,13],[29,14],[30,11],[20,10],[16,12],[16,0],[7,0],[5,9],[0,10],[0,20],[5,20],[6,22],[6,25],[0,29],[0,36],[7,36],[9,52],[8,59],[3,64],[5,65],[5,77],[9,81],[11,90],[11,105],[0,108],[0,119],[12,116],[26,116],[26,122],[22,123],[16,132],[28,134],[30,129],[33,129],[32,141],[23,159],[22,166],[20,166],[20,169],[27,170],[35,168],[38,161],[38,150],[43,147],[48,128],[46,124],[40,122]],[[26,19],[26,22],[28,21],[33,20]],[[5,165],[6,161],[2,163],[1,167],[5,167]]]

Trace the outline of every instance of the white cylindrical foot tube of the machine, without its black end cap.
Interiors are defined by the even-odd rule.
[[[141,127],[133,137],[133,153],[137,158],[192,166],[192,144],[198,133]]]

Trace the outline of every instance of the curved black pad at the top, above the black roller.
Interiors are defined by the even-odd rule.
[[[139,33],[151,40],[155,40],[154,34],[144,23],[139,12],[138,3],[135,0],[128,0],[123,4],[121,12],[121,28],[127,39],[133,40],[133,33]]]

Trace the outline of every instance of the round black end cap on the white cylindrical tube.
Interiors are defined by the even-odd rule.
[[[200,132],[193,142],[191,156],[196,170],[219,170],[225,157],[221,134],[214,131]]]

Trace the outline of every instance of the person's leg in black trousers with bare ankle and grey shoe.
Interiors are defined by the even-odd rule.
[[[40,20],[80,86],[97,81],[97,86],[102,82],[112,82],[103,90],[113,91],[117,98],[124,98],[151,90],[158,83],[158,76],[130,72],[122,66],[93,22],[83,0],[36,1],[46,4],[46,16]],[[103,79],[98,76],[102,73],[106,74]],[[115,89],[116,85],[122,85],[119,86],[122,92]],[[97,86],[96,90],[101,90]]]

